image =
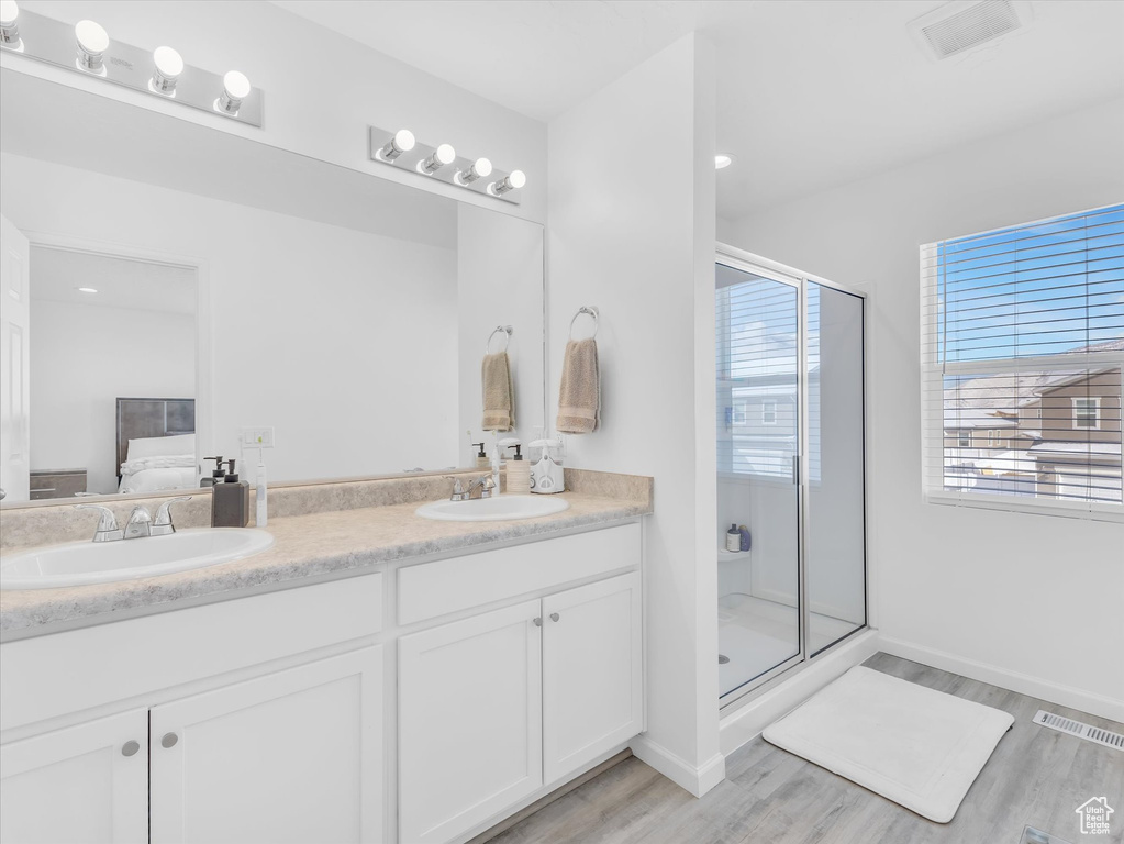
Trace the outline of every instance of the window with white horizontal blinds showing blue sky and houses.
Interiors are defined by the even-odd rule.
[[[928,244],[921,270],[926,493],[1120,518],[1124,205]]]

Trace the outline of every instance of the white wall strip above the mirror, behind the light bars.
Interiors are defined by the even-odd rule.
[[[0,66],[43,76],[182,120],[212,126],[283,149],[420,185],[423,190],[543,221],[546,128],[338,33],[268,2],[223,0],[25,0],[20,7],[74,24],[93,16],[110,38],[155,49],[169,44],[184,61],[214,73],[244,71],[265,92],[262,128],[176,106],[4,51]],[[368,160],[366,127],[409,127],[419,140],[447,142],[501,170],[527,173],[519,207],[477,197]]]

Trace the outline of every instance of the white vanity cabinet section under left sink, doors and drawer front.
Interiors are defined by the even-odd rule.
[[[381,610],[369,574],[0,645],[0,841],[386,841]]]

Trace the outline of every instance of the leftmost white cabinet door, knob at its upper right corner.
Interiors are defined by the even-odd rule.
[[[0,841],[148,841],[148,711],[0,746]]]

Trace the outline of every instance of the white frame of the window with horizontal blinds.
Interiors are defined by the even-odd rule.
[[[937,301],[935,290],[940,283],[939,253],[937,249],[943,243],[960,239],[961,237],[982,237],[989,234],[1006,232],[1012,228],[1032,227],[1048,224],[1057,219],[1073,217],[1079,215],[1091,215],[1097,211],[1115,208],[1117,202],[1103,206],[1102,208],[1090,208],[1081,211],[1061,214],[1039,220],[1016,223],[988,232],[973,232],[963,235],[942,238],[919,246],[919,270],[921,270],[921,435],[922,435],[922,497],[928,503],[950,505],[957,507],[971,507],[988,510],[1034,512],[1048,516],[1059,516],[1069,518],[1094,519],[1102,521],[1124,523],[1124,501],[1070,501],[1063,499],[1032,498],[1026,496],[1012,496],[1001,492],[973,492],[963,490],[944,489],[944,400],[943,384],[946,375],[994,375],[1000,373],[1031,373],[1049,371],[1072,371],[1072,370],[1118,370],[1121,380],[1121,394],[1124,399],[1124,351],[1090,352],[1084,354],[1067,354],[1064,360],[1059,360],[1060,355],[1044,355],[1039,357],[998,357],[989,360],[970,361],[941,361],[936,353],[935,339],[940,336],[940,308],[931,303]],[[934,389],[940,384],[940,389]],[[934,399],[934,396],[940,398]],[[1078,398],[1078,397],[1075,397]],[[1086,397],[1080,397],[1086,398]],[[1090,397],[1097,400],[1097,426],[1096,428],[1076,427],[1076,402],[1075,402],[1075,430],[1100,430],[1100,407],[1102,397]],[[1039,408],[1039,418],[1042,418],[1042,410]],[[1121,432],[1124,437],[1124,429]],[[989,430],[989,443],[991,432]],[[959,446],[958,446],[959,447]],[[1124,450],[1122,450],[1124,451]],[[939,470],[934,469],[937,466]],[[1124,454],[1122,454],[1122,478],[1124,478]]]

